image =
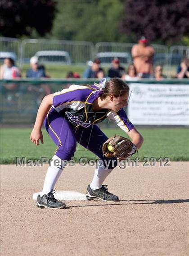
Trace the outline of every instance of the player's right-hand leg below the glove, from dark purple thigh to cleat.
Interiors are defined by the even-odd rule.
[[[97,155],[99,166],[95,169],[94,178],[90,185],[87,187],[88,198],[99,198],[103,201],[117,201],[118,197],[109,193],[106,186],[103,185],[104,180],[117,166],[116,157],[107,158],[103,155],[102,146],[108,137],[96,126],[90,128],[78,128],[75,133],[76,141],[82,146],[92,151]]]

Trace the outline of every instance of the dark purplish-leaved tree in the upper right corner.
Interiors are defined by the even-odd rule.
[[[120,31],[135,40],[144,35],[171,44],[189,35],[189,0],[130,0],[124,5]]]

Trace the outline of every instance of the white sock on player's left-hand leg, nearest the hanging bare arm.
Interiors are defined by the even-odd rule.
[[[55,163],[54,160],[56,160]],[[45,176],[43,191],[41,195],[48,194],[54,188],[54,185],[60,177],[60,174],[62,173],[64,168],[61,161],[62,160],[57,155],[53,156],[51,166],[49,166]]]

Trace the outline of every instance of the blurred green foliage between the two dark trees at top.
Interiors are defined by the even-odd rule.
[[[52,36],[63,40],[126,41],[118,30],[123,15],[121,0],[58,1]]]

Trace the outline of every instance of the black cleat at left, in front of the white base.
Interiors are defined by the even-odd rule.
[[[50,209],[62,209],[65,208],[66,205],[63,202],[57,201],[54,198],[55,190],[51,190],[48,194],[37,196],[37,207],[38,208],[50,208]]]

